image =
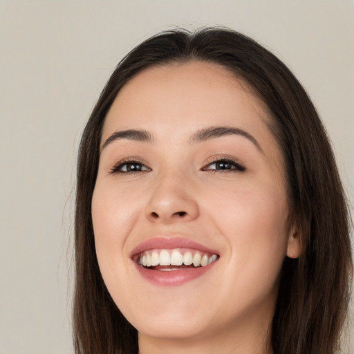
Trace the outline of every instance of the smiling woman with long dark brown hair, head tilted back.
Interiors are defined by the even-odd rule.
[[[304,88],[252,39],[163,32],[80,145],[76,353],[333,354],[349,218]]]

